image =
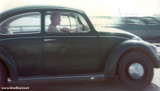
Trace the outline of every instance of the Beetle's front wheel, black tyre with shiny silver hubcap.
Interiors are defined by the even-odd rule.
[[[118,78],[130,89],[144,89],[151,84],[153,64],[151,59],[141,52],[125,54],[118,64]]]

